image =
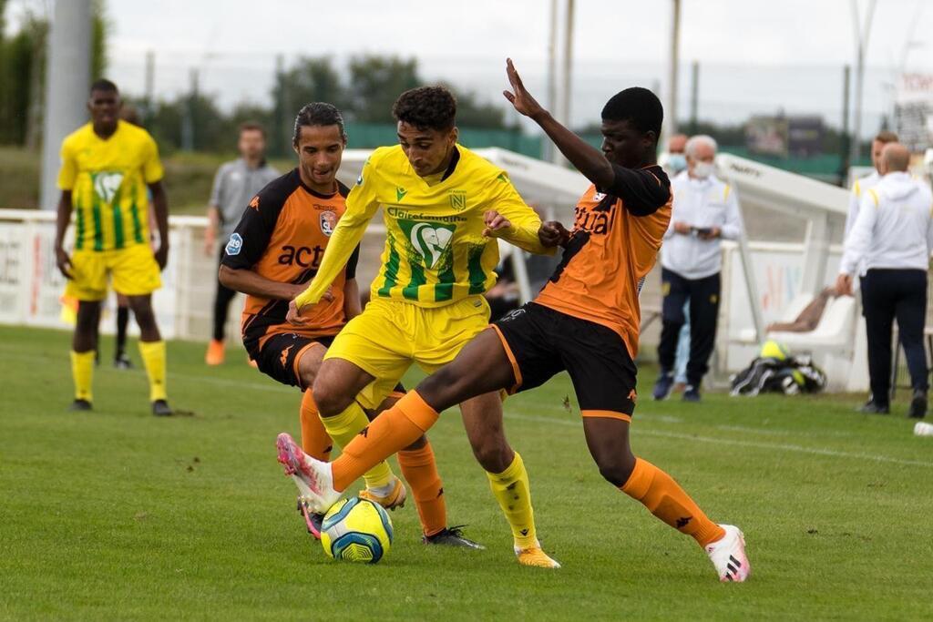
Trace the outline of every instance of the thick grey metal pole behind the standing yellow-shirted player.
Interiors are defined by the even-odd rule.
[[[59,0],[49,34],[39,207],[58,205],[59,149],[87,121],[91,86],[91,0]]]

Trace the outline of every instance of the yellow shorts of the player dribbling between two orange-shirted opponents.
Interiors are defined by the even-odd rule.
[[[489,303],[481,296],[436,308],[373,298],[343,327],[324,358],[344,359],[374,377],[357,399],[364,408],[376,408],[412,363],[431,373],[453,361],[487,326]]]

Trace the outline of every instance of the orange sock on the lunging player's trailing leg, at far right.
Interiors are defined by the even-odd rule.
[[[706,546],[726,535],[715,522],[706,518],[689,494],[674,478],[647,460],[635,458],[635,468],[620,491],[644,504],[651,514],[681,533]]]

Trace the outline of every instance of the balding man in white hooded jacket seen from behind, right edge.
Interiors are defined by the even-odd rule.
[[[924,324],[926,271],[933,251],[933,194],[923,181],[907,173],[910,159],[904,145],[884,145],[881,180],[865,190],[859,201],[858,215],[845,239],[836,287],[851,295],[853,277],[864,270],[861,289],[871,396],[859,410],[890,412],[891,329],[897,318],[913,387],[909,414],[920,419],[926,416],[929,386]]]

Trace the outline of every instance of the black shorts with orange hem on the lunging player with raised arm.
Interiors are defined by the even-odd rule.
[[[510,393],[534,389],[566,370],[583,416],[629,421],[637,371],[615,331],[534,302],[493,326],[515,372]]]

